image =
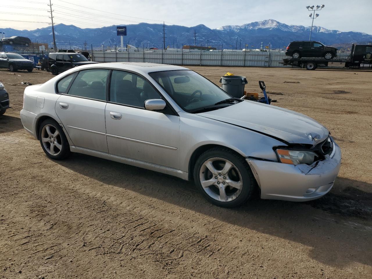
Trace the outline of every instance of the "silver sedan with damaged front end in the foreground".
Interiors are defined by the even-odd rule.
[[[52,159],[77,152],[193,180],[225,207],[255,189],[262,199],[320,198],[341,163],[339,146],[314,119],[232,98],[179,66],[73,68],[27,87],[20,116]]]

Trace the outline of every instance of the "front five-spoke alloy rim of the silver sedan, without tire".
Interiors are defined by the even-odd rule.
[[[238,198],[243,190],[243,179],[238,168],[224,158],[210,158],[200,169],[200,183],[211,198],[230,202]]]

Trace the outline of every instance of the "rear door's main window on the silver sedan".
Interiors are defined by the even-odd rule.
[[[80,71],[68,90],[69,95],[106,100],[106,82],[109,70]]]

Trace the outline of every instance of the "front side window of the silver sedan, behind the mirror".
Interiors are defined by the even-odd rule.
[[[148,99],[161,99],[160,94],[144,78],[113,70],[110,81],[110,102],[144,107]]]

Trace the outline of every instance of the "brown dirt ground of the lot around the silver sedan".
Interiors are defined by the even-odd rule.
[[[327,126],[343,154],[331,192],[224,209],[171,176],[81,154],[52,161],[19,111],[20,82],[53,76],[2,69],[12,108],[0,116],[0,277],[372,278],[372,73],[190,68],[215,83],[247,76],[248,92],[264,80],[284,93],[270,95],[276,106]]]

